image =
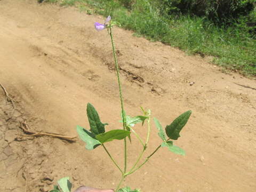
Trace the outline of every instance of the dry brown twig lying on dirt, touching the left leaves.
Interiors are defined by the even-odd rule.
[[[29,127],[25,122],[22,122],[20,125],[20,128],[23,130],[23,132],[25,132],[27,135],[22,135],[25,137],[31,136],[31,137],[39,137],[39,136],[50,136],[50,137],[55,137],[55,138],[60,138],[60,139],[64,139],[64,140],[68,140],[68,141],[75,141],[74,139],[76,137],[69,137],[69,136],[64,136],[64,135],[60,135],[60,134],[56,134],[56,133],[44,133],[44,132],[34,132],[34,131],[29,131]]]

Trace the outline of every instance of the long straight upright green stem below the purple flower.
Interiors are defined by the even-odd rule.
[[[126,117],[124,114],[124,103],[123,103],[121,82],[120,82],[120,77],[119,77],[119,67],[118,67],[118,62],[116,59],[116,52],[115,52],[115,45],[114,45],[114,41],[113,41],[111,23],[110,23],[109,31],[110,31],[109,35],[111,38],[113,55],[114,55],[115,65],[116,65],[117,80],[118,80],[118,85],[119,85],[119,96],[120,96],[121,108],[122,108],[123,128],[124,128],[124,130],[126,130]],[[124,138],[124,173],[126,172],[126,167],[127,167],[127,143],[126,143],[126,138]]]

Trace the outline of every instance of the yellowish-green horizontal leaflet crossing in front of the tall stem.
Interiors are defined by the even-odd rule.
[[[112,141],[114,139],[122,140],[130,134],[131,134],[131,132],[126,131],[126,130],[111,130],[111,131],[108,131],[106,133],[98,134],[95,137],[101,143],[105,143],[105,142]]]

